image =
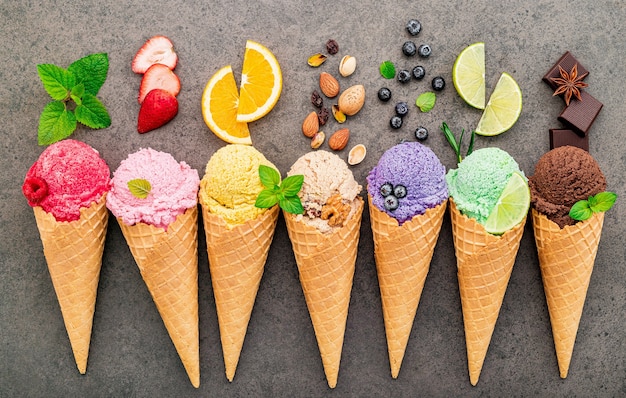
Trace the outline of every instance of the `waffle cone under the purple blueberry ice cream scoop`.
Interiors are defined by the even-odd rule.
[[[374,256],[385,320],[391,376],[400,372],[447,201],[398,225],[371,204]]]

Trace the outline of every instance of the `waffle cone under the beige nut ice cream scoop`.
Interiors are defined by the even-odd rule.
[[[357,256],[363,199],[343,227],[331,234],[284,213],[300,283],[330,388],[337,385]]]

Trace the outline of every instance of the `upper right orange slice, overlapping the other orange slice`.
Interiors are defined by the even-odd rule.
[[[248,40],[243,57],[237,121],[249,123],[274,108],[283,87],[283,75],[274,54],[263,45]]]

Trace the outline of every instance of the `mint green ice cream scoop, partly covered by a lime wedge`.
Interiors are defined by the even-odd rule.
[[[448,171],[448,192],[461,213],[484,225],[514,172],[524,175],[502,149],[479,149]]]

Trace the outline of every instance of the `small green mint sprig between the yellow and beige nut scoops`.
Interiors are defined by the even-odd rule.
[[[276,169],[259,165],[259,178],[265,189],[256,198],[254,203],[256,207],[267,209],[278,203],[278,206],[288,213],[302,214],[304,212],[302,201],[298,196],[304,182],[303,175],[289,176],[281,183],[280,174]]]

